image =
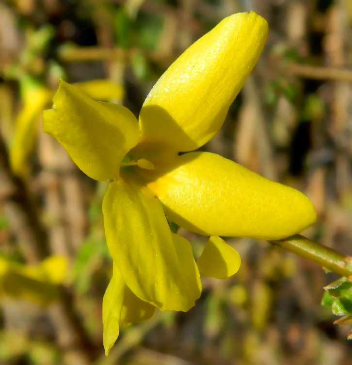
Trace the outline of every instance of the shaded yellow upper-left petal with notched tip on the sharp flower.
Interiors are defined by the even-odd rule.
[[[124,106],[96,102],[64,81],[53,102],[53,109],[43,113],[44,132],[55,137],[91,178],[115,177],[139,137],[134,115]]]

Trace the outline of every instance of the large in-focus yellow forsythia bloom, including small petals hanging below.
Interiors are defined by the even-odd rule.
[[[113,259],[103,301],[106,352],[119,322],[148,319],[156,307],[187,311],[201,293],[199,273],[223,278],[237,271],[237,252],[218,236],[280,239],[316,220],[299,191],[217,154],[190,152],[221,128],[267,34],[267,22],[254,12],[224,19],[160,77],[139,123],[124,106],[93,101],[64,82],[44,112],[44,131],[80,169],[112,181],[103,201]],[[165,214],[212,236],[197,263]]]

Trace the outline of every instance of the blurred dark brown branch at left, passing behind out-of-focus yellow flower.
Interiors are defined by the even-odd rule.
[[[2,138],[0,179],[3,212],[24,259],[33,264],[47,258],[50,251],[46,231],[37,217],[24,183],[10,169]],[[86,334],[74,308],[72,295],[64,286],[60,288],[60,299],[48,307],[48,314],[56,331],[58,346],[63,351],[64,363],[90,364],[96,346]]]

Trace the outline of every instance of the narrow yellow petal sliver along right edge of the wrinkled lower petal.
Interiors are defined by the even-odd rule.
[[[202,283],[200,281],[198,266],[193,258],[191,243],[176,233],[171,233],[171,236],[181,267],[183,270],[187,271],[187,276],[196,278],[196,281],[193,280],[191,282],[193,285],[191,290],[199,293],[200,296],[200,293],[202,292]]]

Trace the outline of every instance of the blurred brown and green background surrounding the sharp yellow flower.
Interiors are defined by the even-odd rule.
[[[202,149],[303,191],[319,216],[304,235],[352,254],[351,0],[0,0],[1,365],[352,364],[349,326],[320,305],[334,274],[236,238],[237,274],[203,278],[188,313],[157,312],[103,355],[107,183],[41,131],[41,111],[63,78],[138,115],[179,54],[251,9],[268,42]],[[198,256],[205,238],[179,233]]]

